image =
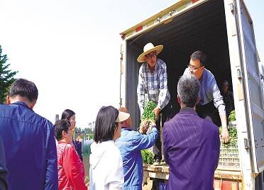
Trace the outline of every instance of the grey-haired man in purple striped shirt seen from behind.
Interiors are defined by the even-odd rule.
[[[219,129],[197,115],[199,90],[199,80],[194,75],[180,78],[177,85],[180,113],[165,122],[163,130],[164,156],[170,167],[166,189],[214,189],[220,152]]]

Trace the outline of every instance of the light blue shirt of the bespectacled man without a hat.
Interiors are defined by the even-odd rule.
[[[190,74],[189,68],[185,69],[184,74]],[[219,87],[216,84],[214,74],[212,74],[208,69],[204,69],[199,82],[201,85],[199,104],[205,105],[214,100],[214,106],[218,109],[219,115],[226,116],[226,106],[224,104],[223,96],[221,96]]]

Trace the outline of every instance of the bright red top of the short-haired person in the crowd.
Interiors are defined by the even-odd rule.
[[[59,190],[87,190],[84,184],[84,164],[71,144],[62,141],[57,144],[57,171]]]

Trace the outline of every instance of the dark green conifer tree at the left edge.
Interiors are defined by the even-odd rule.
[[[7,55],[2,55],[2,47],[0,45],[0,104],[6,101],[6,95],[9,91],[9,87],[16,80],[13,77],[17,71],[9,70],[9,65],[6,61],[9,60]]]

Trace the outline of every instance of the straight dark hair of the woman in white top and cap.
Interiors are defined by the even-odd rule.
[[[113,106],[103,106],[100,108],[94,126],[94,141],[96,143],[113,140],[114,131],[118,126],[116,123],[118,116],[119,111]]]

